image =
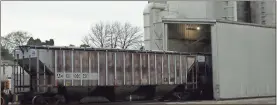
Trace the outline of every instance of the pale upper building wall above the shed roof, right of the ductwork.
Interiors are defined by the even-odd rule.
[[[207,18],[275,25],[275,0],[249,1],[168,1],[169,11],[180,18]],[[193,11],[192,11],[193,10]],[[249,13],[250,12],[250,13]],[[248,17],[250,15],[250,19]]]

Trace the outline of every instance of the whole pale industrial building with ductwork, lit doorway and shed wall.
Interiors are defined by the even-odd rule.
[[[276,1],[151,1],[146,50],[212,54],[215,99],[275,96]]]

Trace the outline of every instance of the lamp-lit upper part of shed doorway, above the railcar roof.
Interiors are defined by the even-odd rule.
[[[168,50],[211,53],[209,24],[168,24]]]

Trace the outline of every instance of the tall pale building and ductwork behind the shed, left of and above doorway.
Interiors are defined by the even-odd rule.
[[[152,10],[150,18],[144,16],[144,27],[150,27],[144,30],[145,49],[173,50],[169,43],[181,43],[179,40],[172,42],[173,40],[168,39],[169,30],[166,25],[163,25],[162,18],[167,18],[169,15],[171,18],[180,19],[216,19],[275,25],[274,2],[273,0],[251,1],[248,5],[250,7],[246,8],[245,1],[167,1],[168,8],[165,10]],[[166,45],[168,47],[165,47]]]

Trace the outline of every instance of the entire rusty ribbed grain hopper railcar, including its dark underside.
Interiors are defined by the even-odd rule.
[[[14,54],[20,71],[29,76],[14,82],[21,103],[71,102],[88,96],[182,100],[188,93],[203,92],[211,71],[211,55],[204,53],[18,46]],[[62,97],[56,98],[58,93]]]

